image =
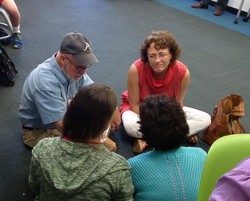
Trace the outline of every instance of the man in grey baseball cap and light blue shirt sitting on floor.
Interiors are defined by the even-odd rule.
[[[91,42],[79,32],[70,32],[62,39],[60,50],[31,71],[18,112],[28,147],[45,137],[61,136],[67,106],[81,87],[93,83],[86,71],[96,62]],[[120,122],[117,110],[110,127],[116,129]],[[104,143],[116,150],[109,138]]]

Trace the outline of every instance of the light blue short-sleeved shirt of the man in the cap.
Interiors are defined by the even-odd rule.
[[[54,128],[63,119],[67,103],[77,91],[93,83],[84,74],[79,80],[69,80],[59,67],[55,55],[38,65],[26,78],[18,116],[21,124],[32,128]]]

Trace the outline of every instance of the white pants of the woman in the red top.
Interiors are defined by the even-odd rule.
[[[211,124],[211,116],[201,110],[197,110],[191,107],[184,106],[182,108],[186,114],[187,123],[189,126],[189,135],[194,135]],[[139,115],[130,110],[122,114],[122,123],[127,134],[134,138],[141,138],[142,134],[138,131],[140,121]]]

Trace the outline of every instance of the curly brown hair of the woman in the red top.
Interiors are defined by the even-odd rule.
[[[180,57],[181,48],[172,33],[169,31],[153,31],[145,38],[141,45],[141,60],[144,63],[148,62],[148,48],[152,43],[155,44],[157,50],[169,49],[169,52],[172,54],[170,64],[174,63]]]

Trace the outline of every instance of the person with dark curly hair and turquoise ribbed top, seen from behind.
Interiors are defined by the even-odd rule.
[[[184,147],[189,127],[184,111],[173,98],[148,96],[140,105],[140,131],[153,151],[128,160],[134,199],[195,201],[206,152]]]

